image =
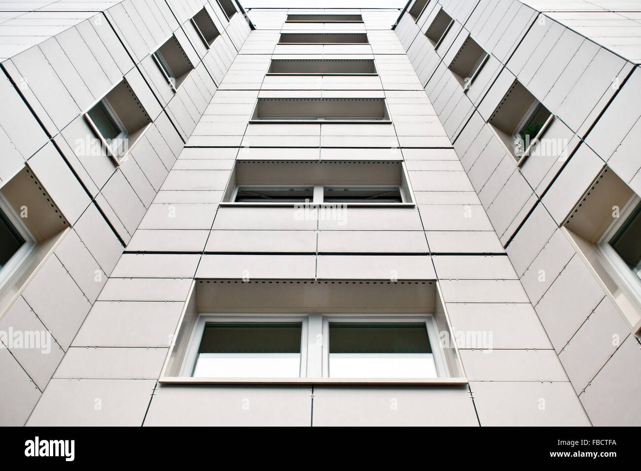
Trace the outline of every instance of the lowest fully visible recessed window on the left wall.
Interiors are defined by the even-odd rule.
[[[151,123],[126,80],[94,104],[85,119],[115,163],[121,162]]]

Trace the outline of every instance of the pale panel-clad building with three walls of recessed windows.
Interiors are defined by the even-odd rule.
[[[639,425],[641,16],[557,3],[3,5],[0,424]]]

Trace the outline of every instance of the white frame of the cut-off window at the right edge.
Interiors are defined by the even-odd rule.
[[[629,217],[641,204],[641,197],[634,194],[622,208],[619,218],[613,220],[612,224],[604,231],[603,235],[597,241],[597,249],[603,258],[608,262],[613,274],[623,283],[624,287],[633,295],[639,304],[641,304],[641,279],[634,274],[628,267],[628,264],[619,256],[617,251],[610,245],[610,240],[615,236],[617,231],[626,224]]]

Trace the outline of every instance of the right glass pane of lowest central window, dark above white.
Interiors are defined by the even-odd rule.
[[[329,377],[438,377],[426,322],[329,322]]]

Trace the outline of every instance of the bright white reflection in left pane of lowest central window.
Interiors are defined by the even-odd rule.
[[[299,353],[201,353],[194,377],[298,377]]]

